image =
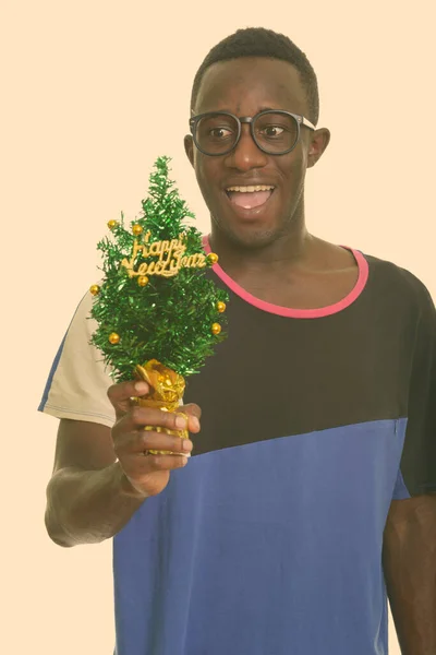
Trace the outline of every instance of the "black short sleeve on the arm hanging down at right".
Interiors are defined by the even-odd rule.
[[[408,422],[395,500],[436,493],[436,310],[422,283],[416,297]]]

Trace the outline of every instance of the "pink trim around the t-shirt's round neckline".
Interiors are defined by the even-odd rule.
[[[210,252],[209,238],[208,236],[203,237],[203,247],[207,253]],[[261,300],[255,296],[252,296],[245,289],[243,289],[238,283],[235,283],[222,269],[219,264],[214,264],[211,266],[214,273],[218,275],[220,279],[237,296],[240,296],[250,305],[254,305],[258,309],[263,311],[268,311],[269,313],[278,314],[279,317],[288,317],[292,319],[320,319],[322,317],[329,317],[334,313],[342,311],[349,307],[359,296],[362,294],[365,288],[368,275],[370,267],[368,263],[363,257],[363,254],[359,250],[354,250],[352,248],[347,248],[350,252],[353,253],[358,266],[359,266],[359,277],[355,283],[354,288],[340,300],[339,302],[335,302],[335,305],[329,305],[328,307],[322,307],[319,309],[289,309],[288,307],[281,307],[280,305],[272,305],[271,302],[266,302],[265,300]]]

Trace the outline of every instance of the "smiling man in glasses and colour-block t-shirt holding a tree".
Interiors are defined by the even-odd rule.
[[[111,385],[88,295],[55,361],[46,524],[61,546],[114,537],[118,655],[386,654],[386,588],[403,654],[436,654],[435,307],[307,231],[317,120],[311,64],[270,31],[238,31],[195,78],[185,150],[230,302],[189,380],[192,441],[143,430],[183,419]]]

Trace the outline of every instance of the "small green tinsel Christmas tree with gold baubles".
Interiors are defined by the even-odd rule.
[[[132,380],[135,366],[157,359],[181,376],[197,373],[214,346],[225,338],[223,310],[226,290],[218,288],[206,275],[217,257],[206,255],[202,234],[183,224],[195,218],[169,179],[169,157],[159,157],[149,177],[148,198],[142,201],[142,215],[130,227],[110,221],[110,237],[97,246],[102,252],[104,278],[93,285],[92,317],[98,329],[92,343],[104,354],[105,362],[113,369],[117,382]],[[183,257],[205,259],[205,267],[180,267],[177,275],[138,275],[141,264],[156,261],[144,251],[133,258],[133,248],[147,240],[153,242],[179,239],[183,234]],[[136,273],[130,276],[123,261],[130,260]],[[194,261],[194,259],[192,259]]]

